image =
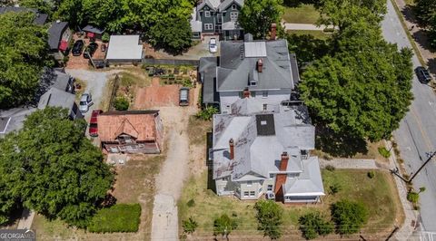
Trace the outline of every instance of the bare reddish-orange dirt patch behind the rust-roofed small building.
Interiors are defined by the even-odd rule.
[[[152,85],[136,90],[134,109],[144,110],[162,106],[178,106],[180,84],[161,85],[159,77],[154,77]],[[192,89],[193,90],[193,89]],[[190,100],[193,100],[193,92],[190,92]],[[193,105],[193,101],[190,101]]]

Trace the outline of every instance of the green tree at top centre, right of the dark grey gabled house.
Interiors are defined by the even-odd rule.
[[[253,34],[255,39],[264,39],[273,23],[282,27],[282,0],[246,0],[238,21],[245,33]]]

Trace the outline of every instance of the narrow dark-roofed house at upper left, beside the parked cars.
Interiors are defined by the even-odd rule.
[[[48,29],[48,46],[54,59],[60,61],[67,55],[72,33],[67,22],[54,22]]]

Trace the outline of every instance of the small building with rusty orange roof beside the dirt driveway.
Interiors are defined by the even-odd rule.
[[[160,153],[163,124],[159,111],[108,111],[97,119],[102,149],[109,153]]]

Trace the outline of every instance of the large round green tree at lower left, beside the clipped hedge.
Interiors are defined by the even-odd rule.
[[[15,187],[11,196],[48,218],[86,227],[114,175],[101,150],[84,137],[85,128],[84,120],[69,120],[67,110],[47,107],[28,116],[18,133],[6,136],[0,143],[0,170],[9,169],[2,179]],[[7,168],[11,161],[14,169]],[[4,189],[0,192],[1,197]]]

